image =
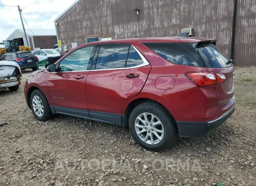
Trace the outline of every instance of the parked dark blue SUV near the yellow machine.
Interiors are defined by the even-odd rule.
[[[36,71],[36,62],[38,62],[38,57],[36,57],[30,51],[22,52],[11,52],[4,54],[0,61],[15,61],[20,66],[21,70],[32,69]]]

